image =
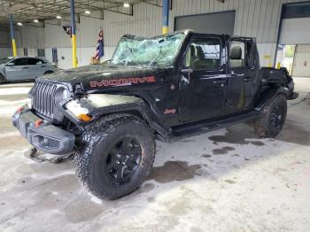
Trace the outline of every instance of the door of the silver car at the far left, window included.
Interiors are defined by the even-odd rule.
[[[27,58],[15,58],[5,66],[7,80],[19,81],[29,79]]]

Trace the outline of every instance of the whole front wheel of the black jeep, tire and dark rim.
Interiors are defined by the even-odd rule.
[[[137,189],[151,170],[155,141],[141,119],[113,114],[89,126],[74,156],[76,174],[89,191],[115,199]]]

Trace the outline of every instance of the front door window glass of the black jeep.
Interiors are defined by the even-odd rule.
[[[216,69],[221,66],[221,42],[219,39],[199,39],[190,43],[184,65],[193,70]]]

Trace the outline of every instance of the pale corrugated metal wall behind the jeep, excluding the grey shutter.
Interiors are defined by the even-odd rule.
[[[266,66],[269,61],[264,60],[264,56],[270,56],[272,61],[275,58],[282,4],[302,1],[306,0],[225,0],[224,4],[218,0],[173,0],[173,10],[170,12],[170,31],[173,31],[176,16],[235,10],[235,35],[256,37],[261,63]],[[89,50],[95,49],[98,30],[102,27],[105,32],[106,50],[111,56],[111,50],[124,34],[159,35],[161,33],[161,8],[151,4],[135,4],[134,16],[105,11],[104,19],[81,17],[81,22],[77,27],[78,46]],[[35,30],[40,31],[36,27]],[[70,38],[62,27],[46,24],[43,30],[43,32],[35,33],[28,27],[25,30],[22,29],[23,46],[31,47],[35,44],[41,46],[42,43],[38,39],[38,34],[40,34],[44,37],[46,49],[70,47]]]

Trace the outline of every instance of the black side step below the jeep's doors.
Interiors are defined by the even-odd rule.
[[[260,118],[260,116],[261,112],[252,111],[236,116],[231,116],[223,120],[216,120],[212,122],[199,121],[185,126],[183,125],[182,127],[173,128],[172,136],[189,135],[198,132],[209,132],[220,128],[227,128],[240,122],[255,120],[257,118]]]

